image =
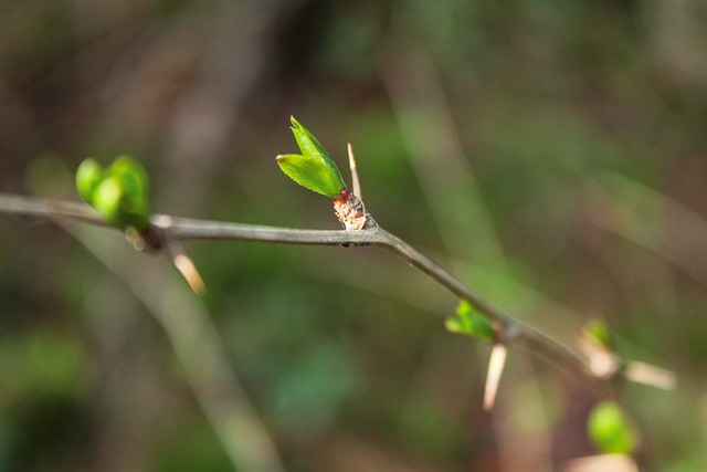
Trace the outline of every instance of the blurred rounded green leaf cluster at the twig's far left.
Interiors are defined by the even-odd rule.
[[[95,159],[85,159],[76,169],[76,190],[110,223],[138,231],[147,228],[149,177],[131,157],[120,156],[107,168]]]

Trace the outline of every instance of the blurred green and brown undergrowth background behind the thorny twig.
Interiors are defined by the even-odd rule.
[[[673,370],[615,386],[641,470],[707,470],[707,3],[0,1],[0,190],[129,154],[155,211],[337,229],[274,162],[295,115],[368,210],[518,319]],[[608,391],[444,329],[377,249],[187,245],[0,218],[2,471],[551,471]],[[271,464],[258,469],[257,464]],[[279,464],[279,465],[277,465]]]

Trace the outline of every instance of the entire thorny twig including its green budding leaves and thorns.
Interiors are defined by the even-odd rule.
[[[336,216],[344,224],[342,231],[295,230],[150,216],[148,175],[138,161],[127,156],[118,157],[107,168],[94,159],[86,159],[76,171],[78,195],[101,218],[87,214],[85,207],[76,207],[70,202],[45,204],[34,199],[12,196],[0,196],[0,212],[78,219],[84,222],[107,223],[123,230],[134,229],[139,234],[150,235],[144,240],[147,245],[138,249],[169,249],[175,264],[182,274],[196,272],[183,251],[175,251],[176,247],[179,248],[179,242],[186,240],[232,239],[318,245],[377,245],[387,249],[410,262],[458,298],[456,317],[447,318],[445,322],[450,332],[493,343],[484,399],[486,409],[494,405],[507,356],[506,346],[514,343],[524,344],[546,355],[550,354],[555,361],[581,370],[590,382],[612,380],[624,374],[620,359],[613,354],[613,344],[605,324],[595,322],[587,326],[582,339],[590,348],[585,349],[585,357],[580,357],[553,339],[506,315],[441,265],[380,228],[359,198],[360,186],[350,146],[354,188],[359,196],[347,188],[334,160],[314,135],[294,117],[291,118],[291,123],[302,154],[279,155],[276,158],[277,165],[295,182],[331,199]],[[184,263],[184,259],[188,260],[188,264]],[[187,270],[184,264],[188,266]],[[190,280],[189,275],[184,275]],[[606,353],[611,368],[597,368],[593,358],[597,352]],[[589,418],[588,430],[602,452],[631,454],[637,445],[637,433],[625,419],[621,408],[613,402],[600,403],[597,407]]]

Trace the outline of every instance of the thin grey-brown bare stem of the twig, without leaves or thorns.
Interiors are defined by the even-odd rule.
[[[107,225],[89,208],[66,201],[39,200],[30,197],[0,193],[0,212],[40,217],[49,220],[72,219],[93,224]],[[277,227],[263,227],[243,223],[205,221],[186,218],[173,218],[155,214],[150,219],[150,232],[158,238],[155,248],[177,241],[196,240],[239,240],[260,241],[284,244],[309,245],[374,245],[387,249],[410,264],[428,274],[432,280],[452,292],[456,297],[469,301],[489,321],[503,326],[503,343],[520,343],[532,352],[563,363],[570,371],[581,371],[594,380],[587,359],[576,352],[525,326],[496,308],[476,292],[466,286],[452,273],[425,256],[416,249],[389,233],[372,222],[371,228],[360,231],[344,230],[303,230]],[[161,240],[161,241],[159,241]]]

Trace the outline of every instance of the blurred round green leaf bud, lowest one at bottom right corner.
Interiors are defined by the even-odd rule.
[[[599,403],[587,421],[589,437],[605,454],[631,454],[639,436],[623,410],[613,401]]]

